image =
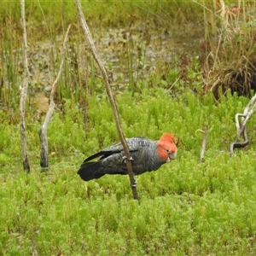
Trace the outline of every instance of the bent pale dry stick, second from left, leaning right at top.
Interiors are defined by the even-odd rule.
[[[56,88],[56,84],[58,82],[58,80],[61,77],[61,72],[62,72],[62,68],[63,68],[63,64],[64,64],[64,57],[65,57],[65,49],[66,49],[66,43],[67,43],[67,35],[68,32],[70,30],[71,25],[69,25],[67,27],[67,32],[65,34],[65,38],[63,41],[63,47],[61,49],[61,65],[60,65],[60,69],[59,72],[57,74],[57,77],[54,81],[54,83],[52,84],[52,88],[50,91],[50,96],[49,96],[49,109],[48,112],[46,113],[45,119],[44,119],[44,123],[43,125],[40,127],[38,134],[39,134],[39,138],[40,138],[40,142],[41,142],[41,154],[40,154],[40,166],[42,167],[42,169],[47,170],[49,165],[48,165],[48,138],[47,138],[47,127],[49,124],[49,120],[51,119],[54,109],[55,109],[55,102],[54,102],[54,95],[55,95],[55,88]]]

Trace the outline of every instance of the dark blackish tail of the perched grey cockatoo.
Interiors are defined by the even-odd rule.
[[[80,166],[78,174],[85,181],[89,181],[94,178],[99,178],[105,175],[105,173],[98,173],[97,170],[101,166],[100,162],[84,162],[82,166]]]

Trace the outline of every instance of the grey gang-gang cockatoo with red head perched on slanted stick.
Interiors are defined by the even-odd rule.
[[[156,171],[163,164],[177,156],[177,138],[164,133],[158,141],[145,137],[126,139],[131,154],[132,171],[135,175]],[[99,160],[94,160],[101,157]],[[127,174],[125,151],[122,143],[115,143],[84,160],[78,174],[85,181],[102,177],[105,174]]]

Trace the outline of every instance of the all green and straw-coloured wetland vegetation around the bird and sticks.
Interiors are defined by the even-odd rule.
[[[137,177],[139,203],[128,177],[88,183],[79,178],[87,156],[119,140],[102,75],[73,1],[26,1],[31,173],[23,172],[20,2],[3,1],[0,255],[255,254],[254,116],[247,124],[249,145],[232,157],[229,146],[236,139],[235,115],[254,93],[256,4],[83,1],[83,9],[111,74],[125,137],[157,139],[171,131],[179,138],[177,159]],[[38,129],[68,24],[65,67],[48,129],[49,171],[41,172]],[[240,84],[232,87],[234,81]]]

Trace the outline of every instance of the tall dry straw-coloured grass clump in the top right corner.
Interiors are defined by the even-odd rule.
[[[252,96],[255,81],[255,3],[219,2],[204,7],[207,90],[218,100],[227,90]]]

